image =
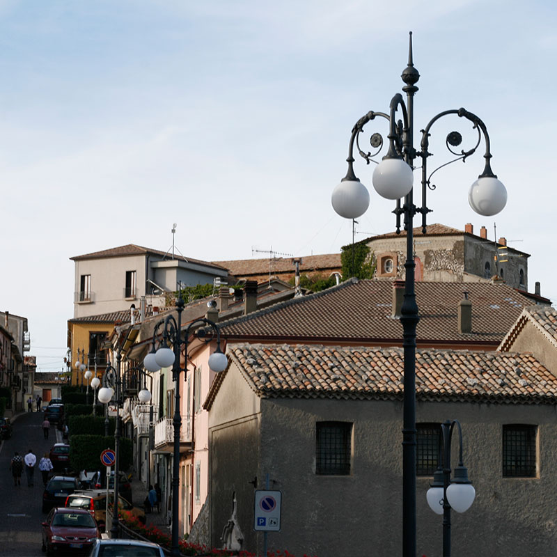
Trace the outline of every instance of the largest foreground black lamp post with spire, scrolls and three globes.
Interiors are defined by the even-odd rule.
[[[405,296],[402,304],[400,322],[402,322],[402,347],[404,351],[404,398],[403,398],[403,427],[402,427],[402,554],[405,557],[416,557],[416,325],[418,324],[418,306],[414,290],[414,235],[413,221],[416,213],[421,213],[422,230],[426,232],[426,217],[430,209],[426,205],[427,189],[434,189],[431,184],[432,173],[427,172],[427,158],[432,155],[428,151],[430,131],[434,123],[440,118],[455,115],[469,120],[472,128],[478,132],[476,146],[469,150],[457,151],[462,143],[462,136],[458,132],[451,132],[446,138],[448,150],[456,156],[454,159],[463,162],[476,152],[480,143],[485,143],[485,167],[478,180],[473,182],[468,194],[470,206],[478,214],[491,216],[503,210],[507,201],[507,191],[497,180],[490,166],[492,158],[489,135],[487,129],[478,116],[465,109],[452,109],[440,112],[434,116],[421,130],[421,148],[414,148],[414,95],[418,88],[416,83],[420,78],[418,70],[414,68],[412,59],[412,37],[410,33],[408,64],[402,72],[405,86],[406,102],[400,93],[391,100],[389,113],[369,111],[362,116],[352,128],[348,150],[348,171],[334,189],[331,202],[334,210],[341,217],[356,219],[366,212],[370,196],[365,186],[354,174],[354,145],[359,155],[366,162],[375,162],[372,184],[377,193],[387,199],[396,200],[396,232],[400,233],[400,219],[403,217],[406,230],[406,261],[405,261]],[[397,112],[400,111],[398,120]],[[370,136],[370,145],[375,152],[363,152],[359,143],[359,136],[363,127],[370,121],[384,118],[389,124],[389,148],[382,162],[372,157],[379,155],[383,147],[383,138],[374,133]],[[421,159],[421,207],[414,205],[414,159]]]

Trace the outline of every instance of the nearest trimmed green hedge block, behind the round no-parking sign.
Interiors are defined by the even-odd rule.
[[[100,454],[105,448],[114,450],[114,437],[104,435],[72,435],[70,462],[74,470],[100,470]],[[132,466],[132,440],[120,437],[120,470]]]

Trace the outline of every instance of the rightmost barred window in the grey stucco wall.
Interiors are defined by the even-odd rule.
[[[535,478],[535,425],[503,425],[503,478]]]

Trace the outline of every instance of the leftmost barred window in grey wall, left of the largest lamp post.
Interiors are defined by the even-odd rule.
[[[317,422],[315,473],[348,476],[352,457],[352,423]]]

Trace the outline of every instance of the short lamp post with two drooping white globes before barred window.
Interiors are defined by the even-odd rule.
[[[450,441],[453,429],[458,428],[459,452],[455,476],[450,479]],[[441,423],[442,442],[439,468],[433,475],[433,483],[427,490],[426,498],[430,508],[437,515],[443,515],[443,557],[450,557],[450,509],[466,512],[476,497],[476,489],[468,479],[468,469],[462,461],[462,427],[457,420]]]

